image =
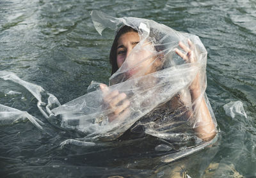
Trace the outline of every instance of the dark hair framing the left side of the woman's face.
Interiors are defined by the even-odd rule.
[[[136,29],[133,29],[132,27],[129,27],[129,26],[120,27],[120,29],[118,29],[116,33],[115,40],[113,41],[113,45],[111,47],[110,54],[109,54],[109,62],[112,65],[111,75],[113,75],[113,73],[115,73],[118,70],[118,66],[116,62],[117,41],[120,38],[120,36],[122,36],[122,34],[132,32],[132,31],[138,33]]]

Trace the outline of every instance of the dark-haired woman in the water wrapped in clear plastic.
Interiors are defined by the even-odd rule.
[[[136,48],[136,45],[139,43],[140,36],[138,31],[129,26],[122,26],[115,36],[109,55],[109,61],[112,65],[111,75],[122,68],[121,70],[125,71],[125,76],[123,75],[123,79],[121,80],[122,82],[130,78],[143,78],[143,76],[147,76],[150,73],[163,70],[164,51],[161,50],[161,47],[157,47],[156,45],[152,47],[153,42],[145,40],[140,43],[139,49],[139,47]],[[188,46],[180,41],[179,47],[180,50],[175,48],[177,55],[182,57],[186,63],[196,63],[195,45],[193,45],[191,40],[188,40]],[[139,83],[145,84],[147,80],[141,79]],[[113,84],[115,84],[115,82]],[[100,84],[100,89],[104,94],[104,108],[111,111],[108,114],[109,122],[122,119],[129,115],[130,101],[127,94],[120,93],[118,90],[110,92],[108,86],[105,84]],[[193,131],[195,131],[196,135],[202,140],[211,140],[216,135],[216,128],[214,122],[212,122],[207,104],[205,103],[205,96],[201,95],[201,89],[200,75],[197,73],[195,79],[189,85],[189,93],[180,91],[175,94],[171,100],[159,105],[154,111],[150,112],[150,114],[140,118],[124,135],[131,135],[131,132],[138,134],[138,130],[145,131],[146,128],[150,127],[153,127],[154,130],[159,130],[162,128],[161,123],[163,123],[163,120],[165,124],[169,122],[168,126],[172,128],[173,123],[170,122],[175,122],[175,124],[177,124],[177,122],[179,122],[179,124],[188,124],[189,120],[199,117],[198,122],[195,122],[194,125],[190,127],[193,128]],[[163,115],[163,113],[166,112],[169,113],[167,114],[168,116]],[[154,117],[152,117],[152,115],[154,115]],[[152,118],[148,120],[148,117]],[[169,119],[166,119],[166,117]],[[173,118],[175,119],[173,120]],[[145,124],[147,125],[148,122],[150,122],[150,126],[146,126],[145,128]],[[143,126],[144,128],[139,129],[138,126]],[[177,125],[175,126],[177,127]],[[175,133],[175,130],[172,131]]]

